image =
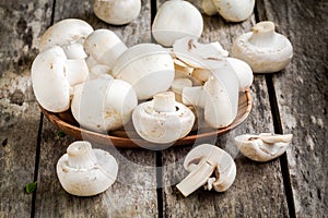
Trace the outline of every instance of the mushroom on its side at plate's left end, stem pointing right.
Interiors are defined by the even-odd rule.
[[[85,61],[67,60],[59,46],[38,53],[31,68],[36,99],[43,108],[51,112],[69,109],[72,86],[85,81],[87,75]]]

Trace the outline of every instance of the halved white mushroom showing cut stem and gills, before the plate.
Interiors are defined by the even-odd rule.
[[[208,184],[208,190],[226,191],[236,177],[236,165],[223,149],[202,144],[191,149],[185,158],[184,168],[190,173],[176,186],[184,196]],[[214,177],[212,177],[214,175]]]

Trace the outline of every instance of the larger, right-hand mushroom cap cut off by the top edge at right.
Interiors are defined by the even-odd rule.
[[[242,22],[253,13],[255,0],[212,0],[220,15],[226,21]]]

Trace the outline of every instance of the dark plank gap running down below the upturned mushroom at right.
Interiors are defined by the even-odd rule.
[[[266,83],[269,93],[269,101],[270,101],[270,108],[271,108],[271,113],[273,119],[274,133],[283,134],[272,75],[266,75]],[[280,168],[281,168],[281,173],[283,179],[284,193],[286,196],[286,203],[289,207],[289,215],[291,218],[294,218],[296,217],[295,203],[294,203],[293,189],[292,189],[291,178],[290,178],[289,161],[285,153],[279,157],[279,161],[280,161]]]

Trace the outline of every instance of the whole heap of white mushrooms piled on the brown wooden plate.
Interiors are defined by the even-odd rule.
[[[176,0],[159,13],[167,13],[171,4],[197,10]],[[185,137],[197,119],[195,109],[203,111],[207,125],[227,126],[253,72],[229,58],[218,41],[200,44],[190,35],[175,35],[171,49],[156,44],[128,48],[112,31],[60,21],[42,36],[42,52],[32,65],[35,96],[48,111],[71,110],[81,128],[106,134],[132,122],[142,138],[156,144]]]

